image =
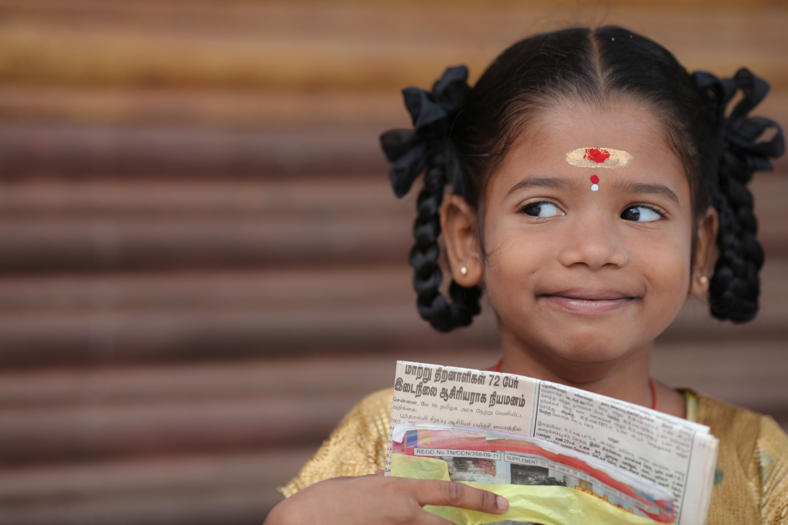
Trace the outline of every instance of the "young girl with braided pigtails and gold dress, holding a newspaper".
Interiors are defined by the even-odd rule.
[[[690,75],[615,27],[536,35],[472,89],[466,76],[449,68],[432,92],[405,90],[414,131],[381,137],[398,197],[425,172],[418,312],[440,331],[467,326],[483,283],[500,320],[496,370],[708,425],[720,440],[708,523],[788,523],[788,437],[774,420],[649,374],[654,339],[688,294],[708,294],[718,319],[756,315],[764,256],[745,185],[785,149],[778,124],[748,116],[768,85],[746,69]],[[441,233],[451,301],[439,291]],[[266,525],[448,523],[427,504],[506,510],[459,483],[370,475],[384,465],[391,405],[392,390],[359,403]]]

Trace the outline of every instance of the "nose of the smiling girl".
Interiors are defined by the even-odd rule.
[[[584,264],[592,270],[622,268],[628,261],[613,224],[585,224],[575,228],[559,252],[559,262],[567,267]]]

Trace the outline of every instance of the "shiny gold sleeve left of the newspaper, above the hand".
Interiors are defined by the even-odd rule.
[[[374,474],[384,468],[393,392],[380,390],[355,405],[281,493],[290,497],[323,479]]]

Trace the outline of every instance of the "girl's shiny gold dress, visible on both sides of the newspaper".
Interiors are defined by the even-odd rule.
[[[383,468],[393,389],[365,397],[281,491],[292,496],[322,479]],[[682,390],[687,418],[711,427],[719,456],[709,525],[788,525],[788,436],[769,416]]]

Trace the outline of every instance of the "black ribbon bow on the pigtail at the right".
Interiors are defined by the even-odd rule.
[[[722,126],[722,150],[743,157],[753,171],[771,169],[769,157],[779,157],[786,150],[782,128],[763,116],[748,116],[768,94],[769,84],[746,68],[739,69],[730,79],[719,79],[704,71],[693,72],[693,79]],[[726,120],[725,109],[738,90],[742,90],[744,98]],[[775,135],[768,141],[756,142],[769,128],[775,128]]]

